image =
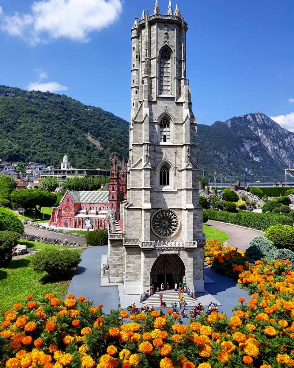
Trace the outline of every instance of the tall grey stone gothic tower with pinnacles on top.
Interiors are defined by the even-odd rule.
[[[110,282],[137,294],[162,282],[204,290],[197,120],[186,79],[187,23],[178,6],[132,27],[132,106],[122,234],[109,234]],[[121,214],[122,217],[122,214]]]

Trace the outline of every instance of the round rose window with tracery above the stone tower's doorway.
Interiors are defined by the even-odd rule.
[[[170,209],[161,209],[154,213],[151,225],[154,233],[159,237],[168,238],[179,229],[179,219]]]

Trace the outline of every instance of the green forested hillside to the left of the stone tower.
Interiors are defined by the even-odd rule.
[[[9,93],[15,96],[8,97]],[[107,168],[128,156],[129,123],[65,95],[0,86],[0,158]]]

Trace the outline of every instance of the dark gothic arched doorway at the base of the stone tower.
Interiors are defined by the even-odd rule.
[[[184,262],[176,254],[161,254],[153,263],[150,271],[150,285],[160,287],[161,283],[169,283],[172,289],[175,282],[183,282],[186,279]],[[184,279],[185,278],[185,279]]]

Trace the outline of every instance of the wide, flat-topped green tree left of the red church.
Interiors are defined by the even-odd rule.
[[[34,208],[40,212],[42,207],[51,207],[56,202],[56,195],[43,189],[16,190],[11,193],[13,208]]]

